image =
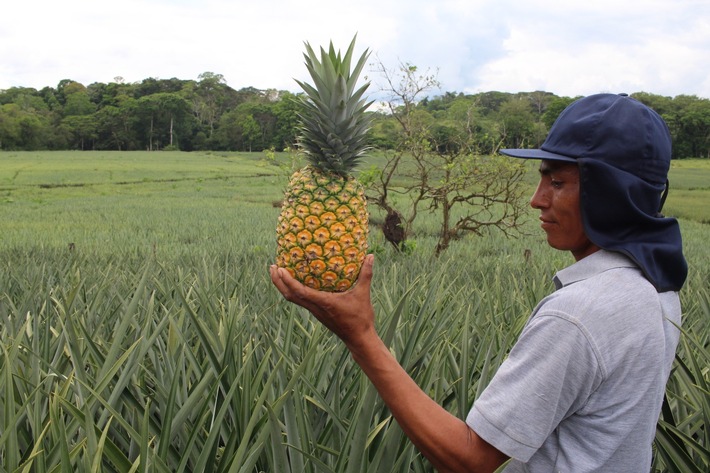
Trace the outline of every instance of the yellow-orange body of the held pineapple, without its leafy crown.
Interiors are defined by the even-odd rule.
[[[367,253],[365,192],[353,177],[306,166],[286,190],[277,223],[276,264],[314,289],[342,292]]]

